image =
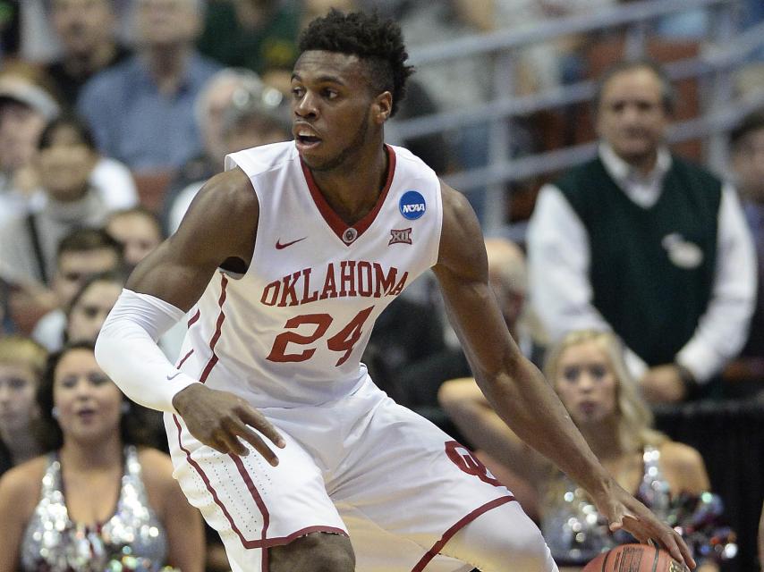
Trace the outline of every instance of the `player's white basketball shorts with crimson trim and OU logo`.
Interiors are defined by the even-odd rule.
[[[469,450],[370,379],[320,406],[259,410],[286,442],[274,448],[277,467],[254,450],[219,453],[180,416],[165,416],[175,478],[220,534],[234,572],[267,572],[268,547],[313,532],[348,534],[359,572],[471,570],[438,552],[514,502]]]

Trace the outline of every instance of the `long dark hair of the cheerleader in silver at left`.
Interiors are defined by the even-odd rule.
[[[95,353],[92,342],[81,341],[65,345],[63,349],[48,357],[45,374],[43,374],[38,385],[37,403],[39,417],[35,424],[35,433],[37,434],[38,443],[44,451],[61,449],[64,444],[64,433],[53,416],[55,369],[66,354],[76,349],[85,349]],[[123,401],[129,402],[124,397],[124,394]],[[123,444],[154,446],[157,442],[157,437],[152,432],[152,427],[156,424],[152,422],[149,409],[142,408],[132,402],[129,403],[130,411],[123,413],[119,425],[120,437]]]

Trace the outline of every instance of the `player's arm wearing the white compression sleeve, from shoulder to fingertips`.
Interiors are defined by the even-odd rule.
[[[247,454],[249,442],[267,460],[276,456],[254,427],[283,446],[272,425],[240,397],[205,387],[179,372],[157,339],[183,317],[221,265],[251,262],[259,205],[241,169],[216,175],[199,191],[180,228],[132,273],[96,344],[98,364],[132,400],[178,413],[200,442]]]

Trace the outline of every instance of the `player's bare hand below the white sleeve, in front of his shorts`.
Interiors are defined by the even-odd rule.
[[[175,394],[173,406],[199,442],[242,457],[250,453],[245,442],[250,443],[268,463],[278,465],[276,454],[260,435],[282,449],[284,439],[265,416],[238,395],[192,383]]]

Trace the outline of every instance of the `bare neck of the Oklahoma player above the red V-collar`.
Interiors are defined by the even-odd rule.
[[[311,172],[327,203],[345,223],[357,223],[377,204],[385,188],[388,165],[384,145],[373,155],[353,157],[330,171]]]

